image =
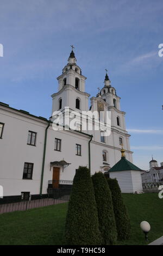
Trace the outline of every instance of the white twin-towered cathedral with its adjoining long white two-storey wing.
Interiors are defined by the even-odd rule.
[[[49,120],[24,110],[0,103],[0,185],[4,197],[47,194],[49,184],[57,188],[72,182],[76,169],[87,166],[91,174],[108,171],[121,159],[121,148],[126,159],[132,160],[126,131],[125,112],[121,111],[120,97],[111,86],[106,72],[104,86],[96,96],[86,93],[82,70],[77,65],[73,49],[68,63],[57,77],[58,91],[52,95],[52,115],[55,111],[110,111],[111,134],[102,131],[53,130]],[[65,183],[65,181],[67,183]]]

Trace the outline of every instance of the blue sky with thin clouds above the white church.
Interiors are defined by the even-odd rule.
[[[163,2],[156,0],[0,0],[0,101],[51,116],[56,77],[71,47],[87,77],[103,87],[105,68],[121,97],[134,163],[163,161]]]

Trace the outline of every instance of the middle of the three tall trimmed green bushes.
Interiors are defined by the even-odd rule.
[[[102,245],[113,245],[117,240],[116,222],[112,206],[111,191],[102,172],[92,176],[98,211]]]

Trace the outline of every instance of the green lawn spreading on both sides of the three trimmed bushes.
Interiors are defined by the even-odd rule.
[[[131,220],[131,239],[117,245],[146,244],[140,222],[151,224],[149,242],[163,235],[163,199],[158,193],[123,194]],[[67,203],[0,215],[0,245],[64,245]]]

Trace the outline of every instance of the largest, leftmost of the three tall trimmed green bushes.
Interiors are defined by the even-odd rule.
[[[101,245],[98,212],[90,170],[79,166],[73,179],[66,216],[67,245]]]

